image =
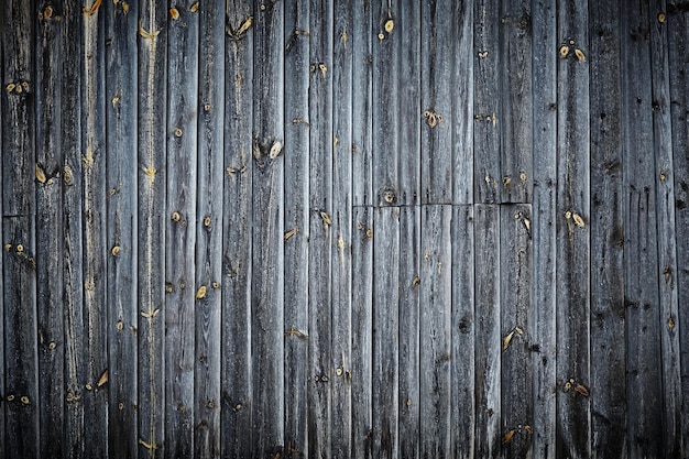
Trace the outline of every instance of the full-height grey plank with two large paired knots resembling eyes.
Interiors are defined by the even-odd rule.
[[[284,445],[284,11],[283,3],[254,3],[252,170],[251,365],[253,456]],[[311,37],[313,37],[311,31]]]

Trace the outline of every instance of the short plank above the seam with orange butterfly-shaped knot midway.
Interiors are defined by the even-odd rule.
[[[422,189],[424,204],[452,199],[452,6],[430,1],[422,8]],[[403,52],[402,54],[405,54]]]

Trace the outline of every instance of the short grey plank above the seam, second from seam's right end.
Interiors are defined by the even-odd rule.
[[[473,3],[473,187],[475,203],[500,201],[500,2]]]

